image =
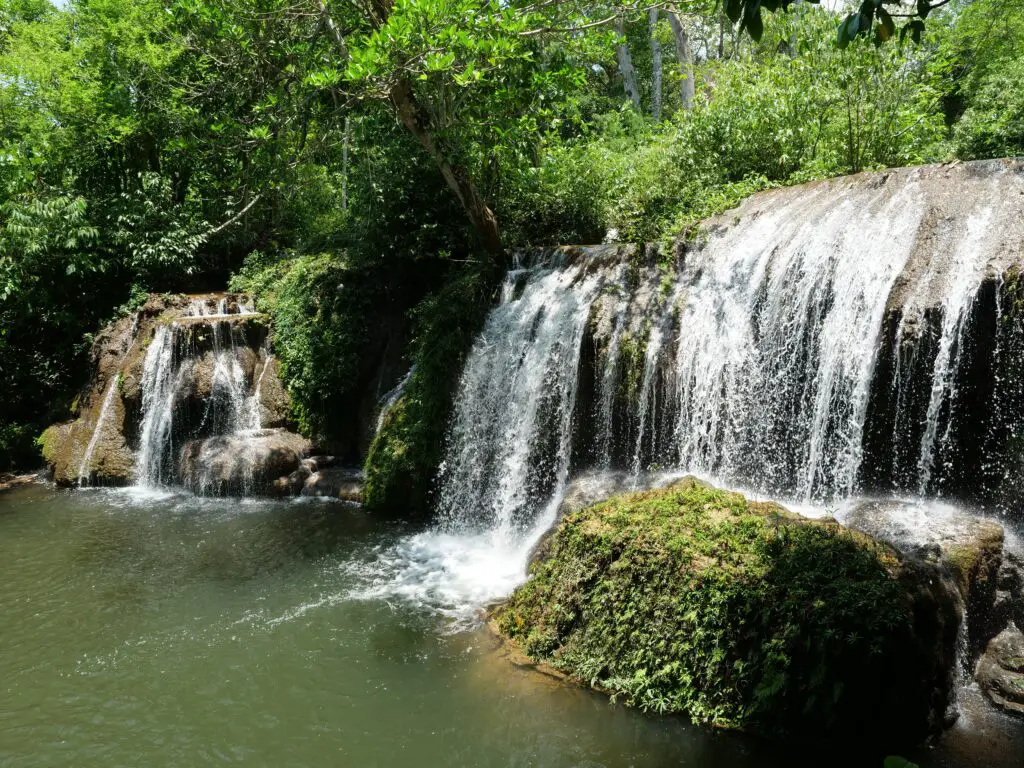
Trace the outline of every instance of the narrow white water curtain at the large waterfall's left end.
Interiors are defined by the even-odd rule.
[[[557,499],[571,460],[584,333],[607,278],[586,260],[509,273],[456,398],[439,477],[450,529],[515,541]]]

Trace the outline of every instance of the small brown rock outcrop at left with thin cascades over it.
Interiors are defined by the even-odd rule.
[[[303,489],[308,440],[290,403],[265,316],[236,294],[152,296],[103,329],[77,418],[43,455],[60,485],[183,485],[201,494]]]

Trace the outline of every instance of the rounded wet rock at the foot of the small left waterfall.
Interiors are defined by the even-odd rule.
[[[309,447],[305,437],[283,429],[217,435],[185,445],[180,473],[202,494],[272,494],[276,479],[298,470]]]

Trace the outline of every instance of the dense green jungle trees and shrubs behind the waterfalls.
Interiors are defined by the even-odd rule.
[[[38,461],[91,335],[147,292],[253,292],[327,443],[385,308],[429,442],[429,362],[517,247],[1024,154],[1024,5],[831,5],[0,0],[0,469]]]

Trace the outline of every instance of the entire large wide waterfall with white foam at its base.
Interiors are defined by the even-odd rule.
[[[942,173],[758,196],[675,263],[601,247],[518,264],[463,373],[439,526],[380,553],[368,593],[452,610],[500,597],[592,468],[634,485],[695,473],[804,509],[932,492],[974,419],[957,402],[980,390],[957,382],[976,297],[1020,259],[1024,191],[1000,167],[962,172],[955,194]],[[883,466],[897,442],[902,474]]]

